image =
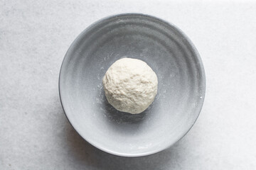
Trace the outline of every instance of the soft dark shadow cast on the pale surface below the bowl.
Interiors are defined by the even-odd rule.
[[[73,157],[75,164],[82,169],[133,169],[153,170],[175,168],[181,159],[178,149],[182,148],[181,142],[173,147],[156,154],[145,157],[119,157],[103,152],[90,145],[76,132],[67,121],[68,149],[70,157]],[[170,165],[174,166],[171,167]]]

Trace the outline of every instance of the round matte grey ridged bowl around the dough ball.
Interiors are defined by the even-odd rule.
[[[119,112],[105,98],[102,77],[122,57],[143,60],[159,79],[144,113]],[[87,142],[139,157],[186,135],[203,106],[206,80],[196,47],[181,30],[154,16],[125,13],[97,21],[75,39],[60,69],[59,90],[68,120]]]

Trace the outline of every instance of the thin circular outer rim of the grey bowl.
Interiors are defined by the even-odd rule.
[[[73,47],[75,46],[75,43],[78,41],[78,39],[80,37],[82,37],[82,35],[84,35],[87,32],[87,30],[90,30],[90,28],[92,28],[93,26],[96,26],[97,23],[100,23],[100,22],[105,21],[105,20],[110,19],[110,18],[116,18],[116,17],[122,17],[122,16],[144,16],[144,17],[147,17],[147,18],[153,18],[157,21],[160,21],[161,23],[165,23],[166,25],[171,26],[171,28],[174,28],[174,30],[176,30],[179,34],[181,34],[183,36],[184,40],[186,40],[188,42],[188,45],[191,45],[191,50],[193,50],[193,52],[195,53],[196,58],[198,60],[198,66],[200,67],[200,70],[201,70],[201,84],[200,85],[201,85],[201,89],[202,89],[202,95],[201,95],[202,98],[198,102],[197,116],[196,116],[196,119],[194,120],[194,122],[192,123],[191,127],[188,128],[188,130],[186,130],[185,132],[183,132],[183,134],[181,135],[181,137],[178,138],[178,140],[176,140],[174,142],[171,142],[169,145],[166,145],[164,147],[158,147],[157,149],[154,149],[154,150],[151,150],[151,151],[148,151],[148,152],[141,152],[141,153],[136,153],[136,154],[127,154],[127,153],[123,153],[123,152],[112,151],[110,149],[107,149],[105,147],[102,147],[102,146],[98,145],[96,142],[90,140],[88,137],[83,136],[82,133],[80,132],[80,130],[78,130],[78,128],[75,128],[75,125],[72,123],[70,118],[68,118],[68,113],[65,111],[65,106],[63,105],[63,101],[62,101],[62,98],[61,98],[60,79],[61,79],[61,74],[62,74],[62,70],[63,70],[63,64],[65,62],[65,59],[68,57],[68,52],[71,49],[73,49]],[[82,137],[90,145],[92,145],[92,146],[96,147],[97,149],[100,149],[104,152],[107,152],[109,154],[114,154],[114,155],[117,155],[117,156],[120,156],[120,157],[145,157],[145,156],[148,156],[150,154],[156,154],[158,152],[163,151],[164,149],[167,149],[167,148],[171,147],[176,142],[181,140],[191,130],[193,125],[196,123],[196,120],[198,119],[198,116],[200,115],[201,110],[203,108],[203,102],[204,102],[205,96],[206,96],[206,73],[205,73],[205,69],[203,67],[203,62],[201,60],[201,57],[200,57],[200,55],[198,53],[198,50],[196,49],[195,45],[193,45],[193,42],[190,40],[190,38],[188,38],[188,36],[185,33],[183,33],[183,31],[180,28],[178,28],[177,26],[175,26],[173,23],[170,23],[168,21],[164,21],[161,18],[158,18],[156,16],[151,16],[151,15],[145,14],[145,13],[118,13],[118,14],[106,16],[104,18],[101,18],[100,20],[95,21],[94,23],[90,24],[90,26],[85,28],[85,30],[82,30],[82,32],[75,38],[75,40],[73,40],[70,47],[68,48],[68,51],[65,53],[65,57],[63,58],[63,62],[60,66],[60,72],[59,72],[59,78],[58,78],[58,91],[59,91],[60,103],[61,103],[61,106],[63,108],[63,112],[65,113],[65,116],[68,119],[68,122],[75,129],[75,131],[78,132],[78,135],[80,135],[80,137]]]

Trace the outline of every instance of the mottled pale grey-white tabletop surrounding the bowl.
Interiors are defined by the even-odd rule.
[[[125,12],[174,23],[206,69],[198,121],[149,157],[95,149],[70,126],[58,97],[70,43],[92,22]],[[255,19],[253,1],[0,0],[0,169],[256,169]]]

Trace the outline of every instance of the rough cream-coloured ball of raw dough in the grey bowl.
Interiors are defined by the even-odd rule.
[[[122,58],[103,77],[107,101],[118,111],[142,113],[154,101],[157,77],[146,62]]]

